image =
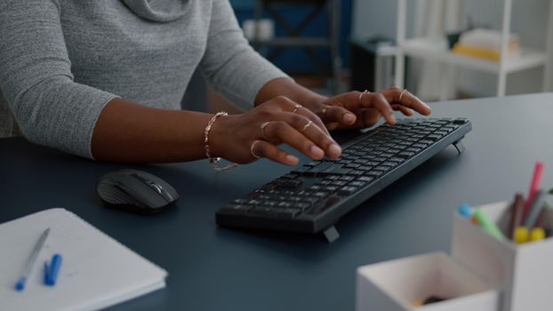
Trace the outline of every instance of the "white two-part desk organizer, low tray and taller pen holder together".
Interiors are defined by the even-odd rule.
[[[507,234],[509,203],[480,206]],[[553,310],[553,238],[516,245],[453,217],[451,257],[431,253],[357,268],[357,311]],[[553,228],[544,208],[536,227]],[[413,307],[429,296],[445,301]]]

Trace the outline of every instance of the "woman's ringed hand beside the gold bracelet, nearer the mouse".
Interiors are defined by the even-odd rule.
[[[340,145],[321,119],[285,96],[268,100],[243,115],[221,116],[209,136],[212,156],[236,163],[266,157],[296,165],[298,157],[276,147],[283,143],[315,160],[341,156]]]

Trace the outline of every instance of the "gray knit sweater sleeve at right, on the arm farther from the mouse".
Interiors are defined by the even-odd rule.
[[[246,109],[252,108],[264,84],[288,77],[252,49],[228,0],[213,0],[207,47],[200,68],[217,92]]]

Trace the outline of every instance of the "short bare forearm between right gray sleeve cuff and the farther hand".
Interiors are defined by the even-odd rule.
[[[322,102],[327,99],[325,96],[312,92],[300,84],[296,84],[291,79],[276,78],[261,87],[260,92],[257,93],[255,98],[255,106],[280,95],[284,95],[308,108],[317,102]]]

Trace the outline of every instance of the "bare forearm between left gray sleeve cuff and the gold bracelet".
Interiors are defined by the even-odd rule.
[[[169,163],[205,157],[204,129],[212,115],[148,108],[114,99],[92,134],[92,156],[101,161]]]

